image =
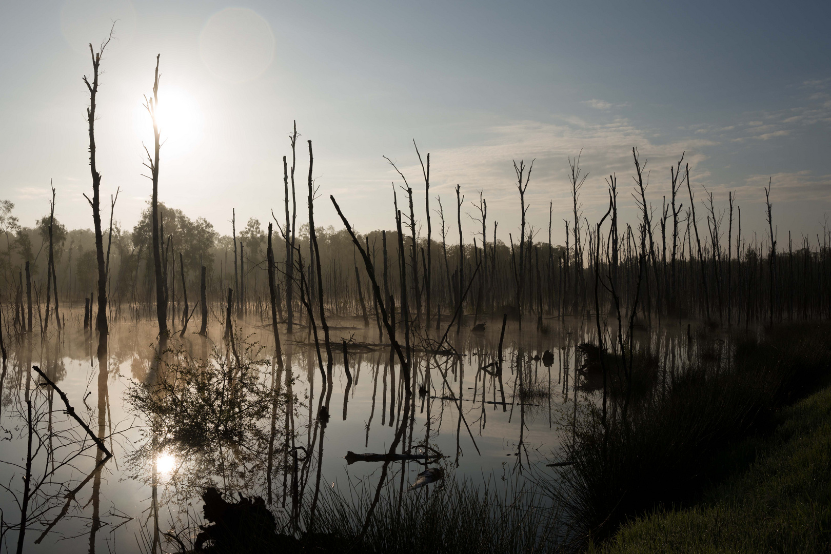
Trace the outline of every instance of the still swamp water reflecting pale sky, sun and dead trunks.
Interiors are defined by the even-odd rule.
[[[244,360],[253,360],[249,364],[255,381],[252,391],[274,387],[282,394],[274,419],[274,439],[270,439],[272,409],[263,411],[260,406],[258,412],[253,404],[241,404],[240,419],[245,419],[245,410],[256,417],[227,431],[234,435],[230,446],[223,446],[222,440],[203,443],[219,444],[218,452],[200,449],[198,441],[189,448],[177,448],[176,444],[156,448],[165,438],[153,436],[151,429],[165,428],[164,424],[160,425],[159,416],[136,409],[135,392],[146,390],[148,382],[165,373],[165,364],[158,362],[155,321],[111,323],[103,368],[96,357],[97,337],[80,329],[80,318],[71,309],[66,313],[66,329],[60,334],[50,331],[49,338],[41,340],[35,332],[7,345],[0,419],[0,484],[4,489],[0,508],[6,526],[20,521],[29,437],[27,400],[31,400],[32,493],[26,552],[55,552],[57,548],[67,554],[147,552],[155,521],[162,533],[171,527],[195,528],[201,519],[200,494],[206,484],[213,483],[236,498],[239,493],[268,498],[267,466],[273,468],[270,509],[276,513],[290,510],[292,478],[283,471],[287,468],[291,473],[292,449],[285,448],[292,444],[286,440],[290,429],[294,429],[293,444],[302,447],[293,450],[298,453],[300,473],[304,452],[311,457],[301,492],[304,505],[316,487],[321,458],[320,488],[334,489],[347,502],[358,489],[375,490],[381,462],[347,463],[345,457],[350,451],[386,453],[405,417],[406,384],[391,348],[383,346],[388,343],[386,333],[379,341],[376,326],[364,329],[359,319],[333,318],[329,322],[332,385],[322,397],[317,350],[307,329],[296,326],[288,335],[281,326],[281,372],[272,360],[273,332],[258,319],[234,320],[234,349],[224,341],[223,326],[214,323],[209,325],[207,337],[189,331],[179,338],[176,333],[168,343],[170,351],[162,356],[169,363],[171,359],[187,363],[209,359],[213,353],[214,366],[222,365],[222,360],[233,366],[234,356],[241,356],[243,365]],[[447,340],[459,355],[450,350],[425,351],[420,345],[426,343],[416,341],[411,352],[414,413],[396,452],[440,453],[443,458],[429,463],[391,463],[386,493],[403,490],[406,494],[425,467],[442,468],[445,479],[494,490],[504,489],[506,482],[522,486],[524,479],[533,479],[535,474],[557,471],[546,464],[562,461],[558,451],[568,434],[563,429],[568,429],[578,404],[597,401],[598,389],[602,389],[602,375],[582,368],[583,355],[578,349],[583,342],[596,342],[594,321],[547,319],[543,331],[537,331],[533,321],[524,321],[522,331],[517,321],[508,321],[500,375],[501,323],[501,318],[488,320],[480,332],[462,326],[458,334],[454,326]],[[194,327],[192,321],[190,329]],[[443,332],[444,327],[430,331],[430,336],[440,338]],[[656,331],[637,332],[640,348],[649,348],[660,360],[659,379],[664,385],[698,344],[688,340],[688,333],[686,322],[677,321]],[[347,341],[348,375],[343,341]],[[711,352],[715,360],[724,359],[724,341],[707,347],[715,349]],[[321,354],[325,368],[322,344]],[[103,461],[96,444],[66,414],[59,395],[43,385],[37,373],[27,371],[32,365],[39,366],[66,394],[91,432],[103,438],[112,458]],[[233,382],[224,385],[237,386]],[[316,422],[322,405],[328,405],[328,422],[321,440]],[[213,412],[204,406],[194,408],[193,413],[178,413],[184,413],[193,427],[210,426]],[[154,418],[157,420],[151,427],[148,424]],[[270,464],[263,459],[267,452],[272,453]],[[303,478],[300,481],[302,484]],[[17,529],[6,533],[3,550],[14,548],[17,535]],[[192,541],[194,537],[188,538]],[[161,540],[164,545],[165,538]],[[171,552],[171,546],[164,550]]]

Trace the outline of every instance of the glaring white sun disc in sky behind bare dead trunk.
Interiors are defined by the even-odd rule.
[[[164,82],[159,86],[156,123],[159,125],[162,159],[188,154],[202,140],[204,116],[199,110],[199,104],[186,91],[175,86],[165,86]],[[135,128],[152,154],[153,123],[144,105],[136,110]]]

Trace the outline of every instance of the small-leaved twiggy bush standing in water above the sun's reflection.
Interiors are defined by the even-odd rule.
[[[235,343],[235,355],[214,348],[207,359],[165,351],[147,383],[133,381],[125,400],[147,425],[130,454],[136,478],[149,481],[154,460],[165,456],[175,464],[163,478],[179,493],[217,481],[225,492],[250,491],[262,486],[269,454],[282,464],[284,441],[269,449],[270,416],[275,404],[285,409],[285,395],[269,384],[263,347]]]

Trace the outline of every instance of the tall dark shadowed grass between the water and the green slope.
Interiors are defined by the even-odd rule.
[[[573,465],[550,483],[578,527],[575,546],[612,537],[661,506],[701,500],[735,468],[726,449],[769,434],[777,409],[828,379],[829,337],[827,324],[800,324],[769,331],[762,341],[736,341],[729,366],[693,363],[665,392],[633,397],[625,415],[617,400],[606,427],[599,408],[585,404],[565,448]]]

